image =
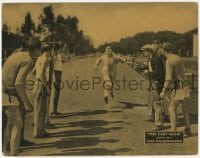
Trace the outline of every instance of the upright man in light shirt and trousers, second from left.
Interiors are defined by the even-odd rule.
[[[35,138],[44,138],[48,136],[45,131],[45,123],[49,113],[49,96],[51,94],[50,80],[50,58],[52,45],[43,43],[42,55],[38,57],[35,64],[35,85],[33,89],[35,108],[34,108],[34,131]]]

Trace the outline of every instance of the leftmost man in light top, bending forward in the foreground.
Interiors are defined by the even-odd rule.
[[[31,38],[26,44],[27,52],[13,53],[3,65],[2,105],[7,118],[3,151],[7,152],[10,141],[10,155],[18,154],[20,141],[21,145],[28,142],[23,138],[25,115],[33,111],[33,106],[26,94],[26,77],[34,67],[40,45],[39,39]]]

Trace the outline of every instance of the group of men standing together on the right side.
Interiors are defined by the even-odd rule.
[[[149,79],[148,121],[155,123],[155,131],[164,129],[164,122],[170,122],[171,131],[177,130],[177,108],[182,105],[186,128],[185,136],[191,135],[189,105],[191,82],[185,75],[184,63],[169,42],[142,47],[148,56],[146,67],[140,71]]]

